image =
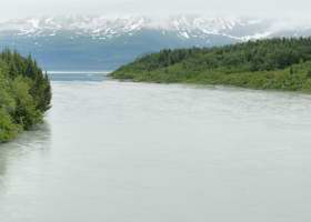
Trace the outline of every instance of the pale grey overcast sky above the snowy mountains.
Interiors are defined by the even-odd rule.
[[[311,0],[1,0],[1,20],[33,16],[122,13],[311,17]]]

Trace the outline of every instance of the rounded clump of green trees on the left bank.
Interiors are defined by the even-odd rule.
[[[30,56],[0,53],[0,142],[40,123],[50,101],[49,78]]]

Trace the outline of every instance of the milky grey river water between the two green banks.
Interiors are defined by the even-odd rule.
[[[310,95],[88,77],[0,145],[1,222],[311,221]]]

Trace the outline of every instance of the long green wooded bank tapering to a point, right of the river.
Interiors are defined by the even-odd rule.
[[[162,50],[113,71],[119,80],[311,92],[311,38]]]

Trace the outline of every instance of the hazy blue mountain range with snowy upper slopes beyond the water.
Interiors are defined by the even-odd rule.
[[[175,16],[46,17],[0,23],[0,48],[31,53],[47,70],[113,70],[164,48],[213,47],[311,34],[282,20]]]

